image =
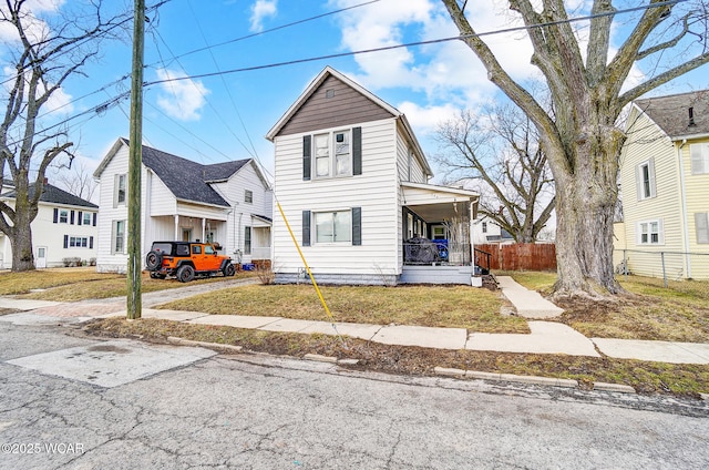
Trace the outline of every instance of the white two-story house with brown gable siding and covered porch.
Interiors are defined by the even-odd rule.
[[[429,184],[407,117],[326,68],[268,132],[275,145],[277,283],[461,283],[473,273],[477,194]],[[290,229],[296,235],[294,243]]]

